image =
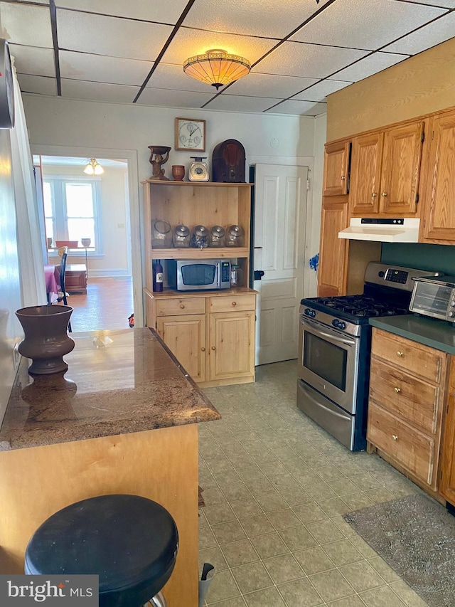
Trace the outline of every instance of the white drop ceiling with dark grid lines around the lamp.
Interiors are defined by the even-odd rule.
[[[455,32],[455,0],[0,0],[23,93],[316,116],[326,95]],[[210,48],[250,60],[217,93],[183,73]]]

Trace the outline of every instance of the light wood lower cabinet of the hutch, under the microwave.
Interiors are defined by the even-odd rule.
[[[146,302],[149,326],[198,384],[255,381],[255,292],[240,287],[201,296],[146,290]]]

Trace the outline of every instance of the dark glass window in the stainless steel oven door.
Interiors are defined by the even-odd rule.
[[[304,342],[304,367],[329,384],[346,391],[348,352],[309,332],[305,332]]]

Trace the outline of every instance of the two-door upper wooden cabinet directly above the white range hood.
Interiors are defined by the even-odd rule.
[[[413,216],[417,211],[424,121],[353,138],[350,213]]]

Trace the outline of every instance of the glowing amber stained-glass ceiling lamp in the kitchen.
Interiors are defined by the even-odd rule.
[[[183,71],[188,76],[210,84],[216,90],[243,78],[250,70],[250,61],[238,55],[230,55],[220,48],[190,57],[183,63]]]

